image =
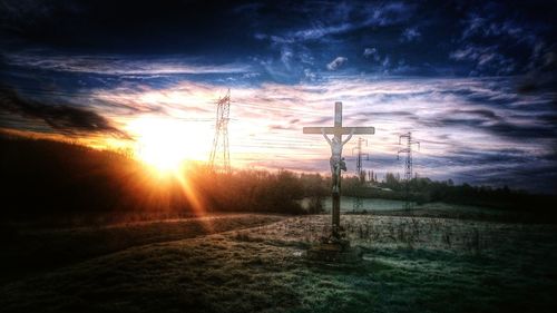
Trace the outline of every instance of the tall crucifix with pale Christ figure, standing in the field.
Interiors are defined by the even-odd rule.
[[[342,157],[342,147],[346,144],[352,135],[375,134],[374,127],[342,127],[342,102],[334,104],[334,127],[304,127],[304,134],[322,134],[331,146],[331,178],[332,178],[332,226],[333,238],[340,237],[340,222],[341,222],[341,170],[346,170],[346,164]],[[330,139],[326,135],[333,135]],[[342,135],[349,135],[343,141]]]

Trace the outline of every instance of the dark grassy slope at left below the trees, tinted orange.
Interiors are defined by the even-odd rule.
[[[104,227],[12,227],[0,236],[0,284],[133,246],[254,227],[283,218],[276,215],[221,214]]]

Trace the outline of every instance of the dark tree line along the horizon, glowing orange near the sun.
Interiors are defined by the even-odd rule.
[[[126,212],[204,214],[254,212],[304,214],[322,211],[331,180],[320,174],[287,170],[212,172],[203,164],[159,176],[129,155],[78,144],[0,136],[3,216],[59,216]],[[449,202],[509,208],[546,207],[555,196],[507,187],[455,185],[450,179],[413,178],[407,185],[393,174],[372,186],[361,177],[343,179],[343,195]],[[306,205],[302,205],[302,200]]]

